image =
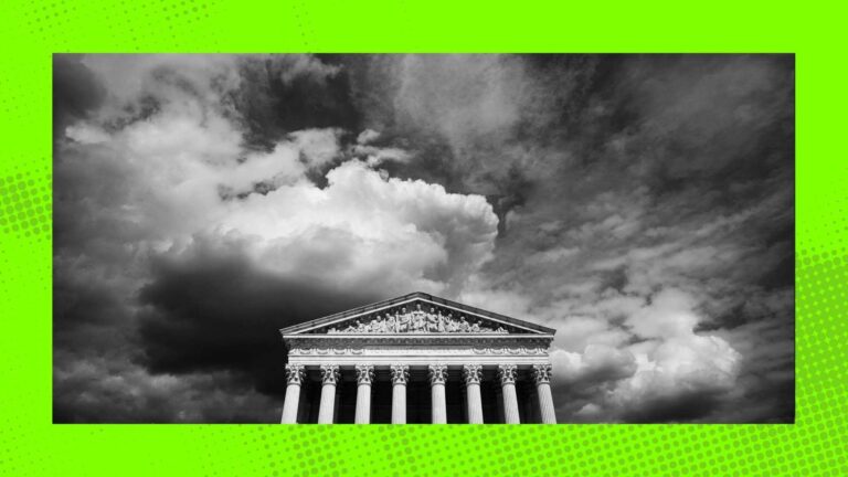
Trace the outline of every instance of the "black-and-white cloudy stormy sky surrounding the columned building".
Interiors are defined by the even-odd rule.
[[[794,420],[789,55],[56,55],[55,422],[278,422],[277,330],[558,330],[560,422]]]

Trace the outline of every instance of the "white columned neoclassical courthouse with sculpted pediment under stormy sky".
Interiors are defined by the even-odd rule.
[[[423,293],[284,328],[282,422],[555,424],[554,332]]]

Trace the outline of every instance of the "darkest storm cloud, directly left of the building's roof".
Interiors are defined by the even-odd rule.
[[[178,256],[153,259],[140,301],[145,365],[155,373],[231,370],[250,374],[258,391],[279,393],[286,351],[280,328],[377,301],[326,283],[275,276],[237,248],[200,239]]]

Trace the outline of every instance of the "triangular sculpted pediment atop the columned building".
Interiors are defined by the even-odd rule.
[[[432,295],[414,293],[295,325],[282,329],[280,332],[284,336],[552,336],[554,330]]]

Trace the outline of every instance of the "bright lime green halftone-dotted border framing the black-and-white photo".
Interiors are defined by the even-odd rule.
[[[842,8],[0,1],[0,476],[848,475]],[[53,425],[54,52],[796,53],[794,425]]]

